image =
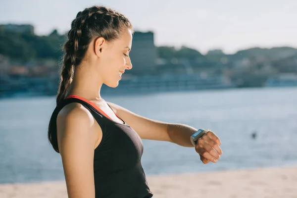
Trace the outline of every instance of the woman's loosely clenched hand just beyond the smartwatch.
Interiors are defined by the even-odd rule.
[[[222,154],[220,146],[220,139],[212,131],[207,130],[206,134],[198,139],[195,149],[204,164],[209,161],[216,163]]]

